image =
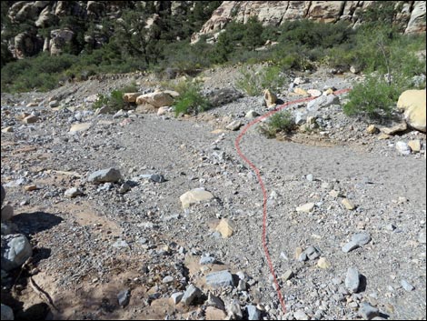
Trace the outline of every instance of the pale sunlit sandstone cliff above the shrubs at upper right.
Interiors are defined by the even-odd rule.
[[[192,43],[201,35],[216,34],[234,20],[246,23],[257,16],[263,25],[282,25],[285,21],[310,19],[334,23],[340,20],[360,24],[360,13],[373,1],[223,1]],[[413,4],[412,4],[413,3]],[[399,1],[396,5],[395,23],[402,25],[405,33],[425,31],[425,1]]]

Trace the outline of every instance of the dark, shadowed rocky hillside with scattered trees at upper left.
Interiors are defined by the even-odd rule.
[[[58,55],[64,50],[69,52],[69,46],[75,46],[79,53],[108,42],[114,33],[112,23],[122,18],[126,10],[140,14],[141,25],[146,28],[165,28],[165,19],[182,20],[198,27],[219,4],[215,1],[209,5],[196,1],[5,1],[2,2],[2,44],[16,58],[41,51]]]

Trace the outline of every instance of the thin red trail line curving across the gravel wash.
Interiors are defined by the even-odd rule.
[[[333,94],[334,95],[341,95],[341,94],[349,92],[350,90],[351,89],[342,89],[342,90],[335,91]],[[243,154],[243,152],[240,148],[240,142],[243,138],[243,135],[246,134],[248,129],[251,128],[253,125],[260,123],[261,121],[263,121],[263,119],[281,111],[283,108],[287,107],[288,105],[308,102],[308,101],[313,100],[315,98],[316,97],[308,97],[308,98],[293,100],[291,102],[287,102],[287,103],[284,103],[283,105],[276,107],[271,112],[268,112],[262,116],[259,116],[258,118],[253,120],[251,123],[249,123],[243,127],[242,132],[237,136],[237,138],[235,139],[235,142],[234,142],[235,148],[237,150],[237,154],[239,154],[239,156],[243,159],[243,161],[245,163],[247,163],[253,169],[253,172],[255,172],[255,175],[258,178],[258,183],[260,184],[261,190],[263,192],[263,237],[262,237],[262,239],[263,239],[263,251],[265,254],[265,258],[267,260],[268,267],[270,268],[270,273],[273,276],[273,283],[275,285],[275,288],[277,291],[277,296],[278,296],[280,304],[282,306],[283,315],[286,313],[286,306],[284,304],[284,299],[283,299],[283,295],[282,295],[279,283],[277,282],[276,274],[274,272],[274,267],[273,267],[272,259],[270,257],[270,253],[269,253],[268,246],[267,246],[267,240],[266,240],[266,235],[267,235],[267,192],[266,192],[265,186],[263,184],[263,178],[261,178],[260,170],[258,169],[258,167],[254,166],[253,163]]]

